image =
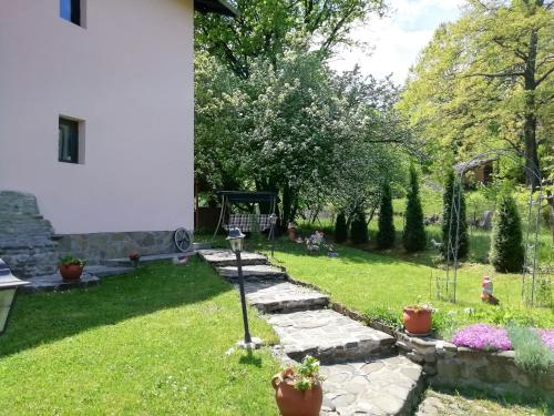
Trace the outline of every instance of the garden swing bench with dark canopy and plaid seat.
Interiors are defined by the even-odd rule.
[[[214,239],[219,232],[219,229],[228,231],[230,229],[240,229],[243,233],[253,231],[264,232],[269,230],[269,239],[275,236],[275,224],[271,224],[271,215],[275,216],[277,209],[277,194],[275,192],[250,192],[250,191],[218,191],[217,195],[222,199],[222,211],[219,221],[214,233]],[[271,214],[253,214],[253,213],[232,213],[230,209],[234,204],[239,203],[258,203],[268,204]],[[224,223],[228,217],[227,223]]]

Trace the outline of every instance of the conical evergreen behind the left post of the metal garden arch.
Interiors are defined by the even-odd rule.
[[[452,224],[450,223],[450,214],[452,213],[452,194],[458,199],[460,193],[460,224],[458,224],[458,216],[454,213]],[[454,203],[458,204],[458,200]],[[465,196],[460,180],[455,177],[454,171],[450,171],[447,176],[444,185],[444,194],[442,195],[442,255],[448,257],[449,239],[452,237],[452,245],[455,244],[455,230],[459,227],[458,233],[458,258],[464,258],[468,255],[468,221],[465,219]],[[452,255],[452,254],[451,254]]]

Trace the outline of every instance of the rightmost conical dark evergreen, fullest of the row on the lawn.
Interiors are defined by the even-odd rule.
[[[523,235],[515,201],[503,192],[497,201],[492,229],[491,264],[496,272],[521,272],[524,261]]]

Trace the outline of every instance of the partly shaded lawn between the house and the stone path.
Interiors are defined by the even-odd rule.
[[[0,338],[0,413],[276,415],[278,363],[267,349],[226,354],[242,334],[236,292],[196,258],[20,296]]]

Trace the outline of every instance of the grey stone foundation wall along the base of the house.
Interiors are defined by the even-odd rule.
[[[60,255],[73,254],[92,264],[106,258],[126,257],[133,251],[142,255],[176,252],[173,231],[63,234],[58,239]]]

